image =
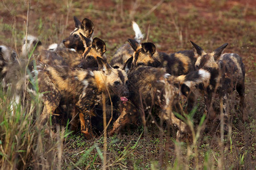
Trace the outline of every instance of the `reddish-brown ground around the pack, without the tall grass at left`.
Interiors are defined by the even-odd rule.
[[[26,32],[28,1],[2,1],[0,8],[0,45],[20,52]],[[160,52],[192,49],[189,40],[208,52],[228,42],[225,52],[240,54],[246,66],[250,121],[242,123],[237,111],[238,100],[234,101],[233,133],[223,146],[218,122],[209,124],[209,132],[201,133],[196,143],[197,156],[191,154],[195,148],[190,147],[189,140],[177,144],[170,134],[160,139],[159,130],[153,124],[149,125],[150,133],[140,138],[142,125],[131,126],[123,134],[108,138],[110,169],[195,169],[196,162],[200,169],[220,168],[221,155],[225,162],[222,167],[226,169],[255,168],[256,1],[32,1],[28,33],[38,36],[44,45],[61,42],[75,28],[73,16],[93,21],[94,37],[106,42],[109,59],[128,38],[134,37],[131,21],[135,20],[145,34],[144,41],[153,42]],[[203,110],[199,97],[195,122],[200,121]],[[64,143],[63,169],[101,168],[98,148],[103,147],[102,141],[103,138],[86,140],[79,133],[70,135]]]

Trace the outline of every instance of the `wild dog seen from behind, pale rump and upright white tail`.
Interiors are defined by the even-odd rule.
[[[139,25],[133,22],[133,31],[135,32],[134,40],[140,43],[143,40],[144,35],[139,29]],[[126,61],[133,56],[134,50],[131,48],[129,43],[122,45],[120,48],[117,49],[115,52],[112,60],[110,61],[110,65],[113,68],[122,68]]]

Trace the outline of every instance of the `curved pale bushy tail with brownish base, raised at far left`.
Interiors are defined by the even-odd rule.
[[[40,52],[40,50],[44,49],[42,42],[37,37],[32,35],[27,36],[27,44],[26,44],[26,37],[24,37],[22,44],[23,45],[22,45],[21,56],[24,58],[27,58],[34,48],[37,52]]]

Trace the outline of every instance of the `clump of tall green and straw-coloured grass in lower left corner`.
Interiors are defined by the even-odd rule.
[[[32,53],[28,56],[28,62],[31,56]],[[61,169],[65,129],[56,126],[55,139],[46,137],[44,133],[46,129],[38,128],[43,106],[42,94],[39,93],[36,75],[32,76],[27,69],[28,65],[25,65],[19,67],[21,77],[18,78],[25,79],[22,93],[16,94],[15,83],[9,82],[7,87],[1,84],[0,167],[1,169]],[[36,65],[34,68],[36,69]],[[28,92],[28,88],[33,89],[34,92]],[[18,94],[23,94],[19,96],[19,100],[17,100]]]

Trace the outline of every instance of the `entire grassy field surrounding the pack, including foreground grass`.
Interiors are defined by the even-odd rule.
[[[28,2],[0,2],[0,45],[18,53],[27,26],[28,33],[47,46],[67,37],[75,28],[73,16],[77,16],[93,21],[94,37],[106,42],[109,60],[134,37],[131,21],[135,20],[145,34],[144,41],[153,42],[160,52],[192,49],[189,40],[207,52],[228,42],[225,52],[239,54],[245,63],[248,123],[241,121],[239,100],[233,95],[232,133],[221,140],[218,121],[201,126],[204,103],[199,96],[195,116],[188,120],[195,135],[176,142],[166,127],[162,134],[148,122],[149,133],[143,135],[141,124],[131,125],[122,134],[108,137],[106,168],[255,169],[255,1],[45,0],[32,1],[30,10]],[[18,104],[12,114],[9,94],[0,90],[1,169],[101,169],[104,138],[98,135],[86,140],[80,133],[70,133],[67,126],[56,126],[57,139],[53,139],[35,126],[41,108],[38,94],[30,105]]]

